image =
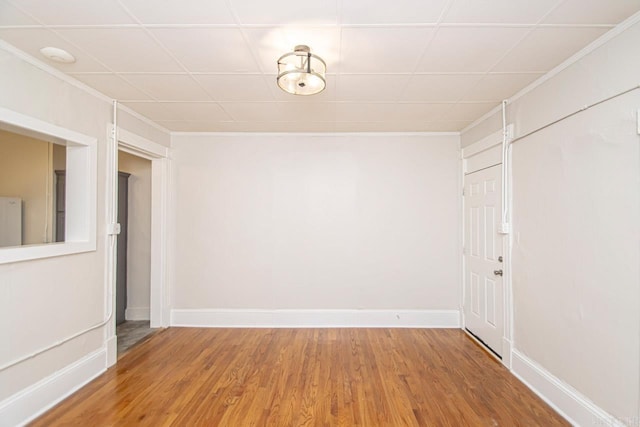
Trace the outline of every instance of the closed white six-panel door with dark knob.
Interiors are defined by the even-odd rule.
[[[504,289],[500,165],[465,176],[465,327],[502,354]]]

